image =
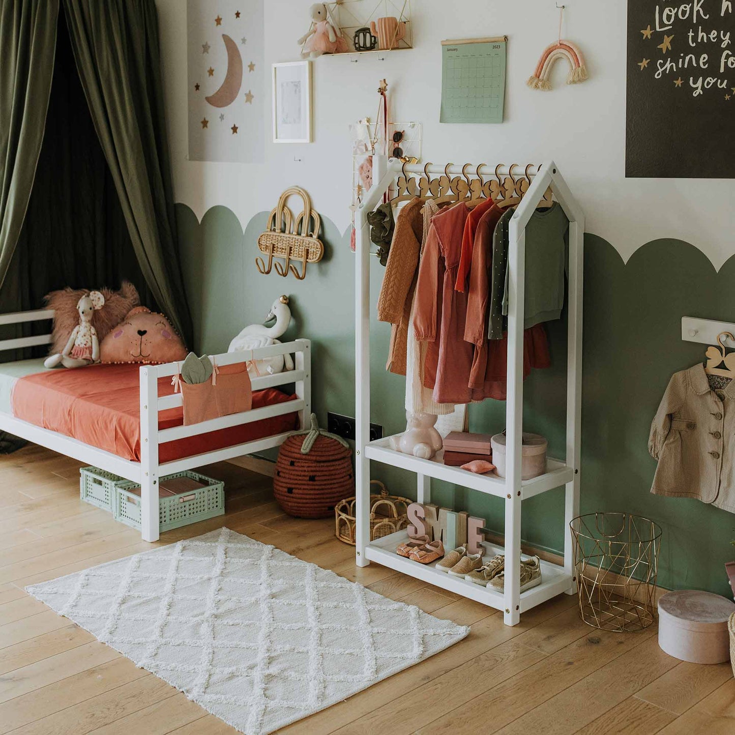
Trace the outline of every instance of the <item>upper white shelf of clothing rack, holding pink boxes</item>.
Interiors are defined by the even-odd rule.
[[[479,490],[479,492],[495,495],[498,498],[505,498],[508,493],[505,478],[498,477],[494,472],[487,475],[476,475],[459,467],[445,465],[443,450],[438,452],[434,459],[419,459],[410,454],[391,449],[390,437],[384,437],[366,445],[365,456],[368,459],[374,459],[376,462],[383,462],[384,465],[401,467],[404,470],[435,477],[437,480],[445,480],[462,487],[469,487],[472,490]],[[481,457],[478,456],[478,459],[481,459]],[[545,474],[531,480],[523,480],[521,483],[521,499],[533,498],[534,495],[539,495],[540,492],[561,487],[567,482],[571,482],[573,478],[574,470],[572,467],[567,467],[564,462],[560,462],[558,459],[549,458],[546,460]]]

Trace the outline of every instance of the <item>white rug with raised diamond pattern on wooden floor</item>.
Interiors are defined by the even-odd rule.
[[[26,589],[248,735],[470,631],[227,528]]]

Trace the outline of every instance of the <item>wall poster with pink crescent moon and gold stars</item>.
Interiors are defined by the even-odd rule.
[[[188,0],[189,159],[264,159],[262,0]]]

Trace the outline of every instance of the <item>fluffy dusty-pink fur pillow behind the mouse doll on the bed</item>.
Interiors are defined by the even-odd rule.
[[[101,288],[104,296],[104,306],[92,315],[92,326],[97,330],[100,342],[113,326],[121,323],[125,315],[138,304],[140,297],[137,289],[132,283],[123,281],[119,291],[109,288]],[[76,304],[82,296],[89,294],[85,288],[63,288],[59,291],[51,291],[44,297],[47,309],[54,309],[54,330],[51,332],[51,351],[49,354],[59,354],[66,346],[69,335],[74,327],[79,324],[79,312]]]

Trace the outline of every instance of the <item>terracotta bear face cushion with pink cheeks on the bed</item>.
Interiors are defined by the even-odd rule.
[[[100,362],[177,362],[187,355],[184,343],[162,314],[137,306],[110,330],[99,346]]]

